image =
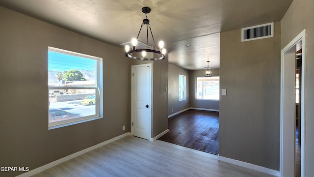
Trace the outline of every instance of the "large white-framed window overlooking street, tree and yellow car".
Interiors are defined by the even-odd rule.
[[[102,59],[48,48],[49,129],[102,118]]]

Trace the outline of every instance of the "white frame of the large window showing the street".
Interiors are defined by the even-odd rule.
[[[69,125],[74,125],[86,121],[91,121],[99,118],[104,117],[103,113],[103,59],[99,57],[94,57],[90,55],[85,55],[85,54],[80,54],[72,51],[67,51],[63,49],[58,49],[54,47],[48,47],[48,51],[60,53],[60,54],[65,54],[65,55],[71,55],[71,56],[76,56],[76,57],[81,57],[81,58],[87,58],[87,59],[95,59],[97,62],[97,68],[96,68],[96,80],[95,80],[95,87],[55,87],[55,86],[48,86],[48,92],[50,89],[95,89],[95,105],[96,105],[96,114],[95,115],[90,115],[90,116],[85,116],[85,117],[80,117],[80,118],[72,118],[68,120],[61,120],[61,121],[56,121],[56,122],[49,122],[49,114],[48,114],[48,129],[54,129],[54,128],[59,128],[59,127],[64,127],[64,126],[69,126]],[[49,60],[49,59],[48,59]]]

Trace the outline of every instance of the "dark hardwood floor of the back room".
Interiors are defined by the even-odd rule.
[[[219,112],[187,110],[169,118],[168,127],[158,140],[218,154]]]

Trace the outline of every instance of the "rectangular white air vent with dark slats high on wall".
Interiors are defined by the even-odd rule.
[[[263,25],[258,25],[254,27],[248,27],[242,29],[241,41],[250,41],[263,39],[268,37],[274,37],[274,23],[268,23]]]

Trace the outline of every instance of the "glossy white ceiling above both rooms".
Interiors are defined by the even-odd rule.
[[[219,68],[220,32],[282,19],[292,0],[0,0],[0,5],[109,44],[136,37],[145,14],[169,63],[185,69]],[[143,36],[142,36],[143,35]],[[240,40],[239,34],[239,40]],[[144,42],[142,29],[139,40]],[[150,45],[153,45],[150,41]],[[186,45],[191,45],[186,47]],[[157,62],[157,61],[156,61]]]

